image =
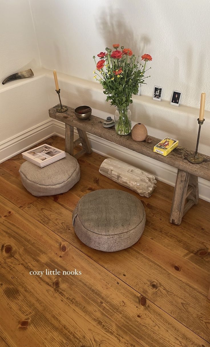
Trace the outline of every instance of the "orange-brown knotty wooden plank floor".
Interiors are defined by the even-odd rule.
[[[64,149],[56,136],[43,143]],[[0,164],[0,346],[210,346],[210,204],[172,225],[173,187],[158,182],[140,197],[99,174],[103,160],[82,156],[80,181],[49,197],[22,186],[21,154]],[[134,194],[146,210],[142,237],[120,252],[88,248],[73,231],[79,199],[103,188]]]

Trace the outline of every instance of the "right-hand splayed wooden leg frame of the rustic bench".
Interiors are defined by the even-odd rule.
[[[178,170],[170,211],[170,223],[180,225],[182,217],[194,204],[198,204],[198,199],[198,177]]]

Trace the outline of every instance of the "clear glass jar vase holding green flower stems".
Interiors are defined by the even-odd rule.
[[[117,107],[114,115],[114,125],[116,133],[128,135],[131,132],[131,111],[129,107]]]

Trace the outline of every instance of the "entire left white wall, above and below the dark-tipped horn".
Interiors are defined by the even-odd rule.
[[[37,79],[40,53],[28,0],[0,1],[0,150],[48,117],[45,79]],[[35,77],[2,85],[8,75],[32,68]],[[41,78],[41,76],[40,76]]]

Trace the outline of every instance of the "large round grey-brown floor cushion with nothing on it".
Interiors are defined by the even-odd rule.
[[[72,215],[78,238],[87,246],[105,252],[132,246],[141,237],[145,222],[141,201],[116,189],[86,194]]]

